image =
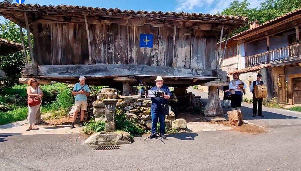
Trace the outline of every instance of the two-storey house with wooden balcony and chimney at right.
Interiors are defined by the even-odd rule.
[[[252,81],[261,72],[267,84],[268,99],[277,97],[281,104],[301,103],[301,9],[258,25],[222,42],[226,44],[222,69],[232,79],[240,73],[247,84],[244,98],[253,98]],[[219,44],[218,44],[219,46]]]

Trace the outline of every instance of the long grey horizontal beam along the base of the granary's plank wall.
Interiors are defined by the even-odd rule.
[[[176,70],[174,75],[174,70]],[[178,78],[213,78],[211,69],[170,68],[166,66],[144,66],[132,64],[109,65],[48,65],[39,66],[38,75],[62,78],[62,77],[119,77],[128,75],[140,76],[167,76]],[[195,75],[194,75],[195,73]],[[214,77],[216,78],[216,77]]]

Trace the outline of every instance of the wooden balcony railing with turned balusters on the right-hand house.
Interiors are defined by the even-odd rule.
[[[259,53],[253,56],[246,56],[245,65],[253,66],[270,61],[281,60],[285,58],[291,58],[300,55],[299,44]]]

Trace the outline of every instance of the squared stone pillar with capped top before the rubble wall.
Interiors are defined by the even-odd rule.
[[[116,103],[117,99],[104,99],[104,113],[105,113],[105,131],[112,132],[116,129]]]

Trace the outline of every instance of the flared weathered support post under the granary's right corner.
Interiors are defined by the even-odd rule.
[[[217,87],[209,87],[208,102],[205,106],[205,116],[223,116],[224,111],[222,109],[219,94],[217,93]]]

